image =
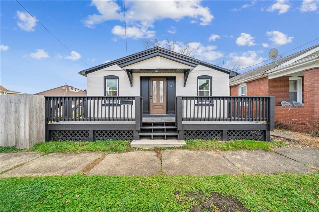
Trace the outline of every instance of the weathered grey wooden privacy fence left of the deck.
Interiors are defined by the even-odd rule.
[[[43,143],[44,105],[44,96],[0,95],[0,145],[28,149]]]

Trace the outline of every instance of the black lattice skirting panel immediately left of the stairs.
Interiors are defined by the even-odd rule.
[[[133,130],[95,130],[94,140],[133,140]]]

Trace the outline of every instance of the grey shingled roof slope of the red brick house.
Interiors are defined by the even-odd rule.
[[[280,59],[280,60],[277,60],[276,62],[277,62],[277,64],[282,64],[282,63],[284,63],[284,62],[287,62],[287,61],[289,61],[289,60],[292,60],[292,59],[295,58],[295,57],[298,57],[298,56],[300,56],[300,55],[302,55],[302,54],[305,54],[306,52],[308,52],[308,51],[310,51],[310,50],[312,50],[312,49],[314,49],[314,48],[317,48],[317,47],[319,47],[319,44],[318,44],[318,45],[315,45],[315,46],[313,46],[313,47],[307,48],[307,49],[305,49],[305,50],[302,50],[302,51],[300,51],[300,52],[297,52],[297,53],[295,53],[295,54],[293,54],[293,55],[289,55],[289,56],[287,56],[287,57],[284,57],[284,58],[282,58],[282,59]],[[271,62],[271,63],[268,63],[268,64],[263,65],[263,66],[261,66],[261,67],[258,67],[258,68],[256,68],[256,69],[252,69],[252,70],[250,70],[250,71],[247,71],[247,72],[245,72],[245,73],[242,73],[242,74],[240,74],[240,75],[237,75],[237,76],[231,78],[231,79],[229,80],[229,82],[230,82],[230,83],[236,83],[236,81],[243,80],[243,79],[245,79],[245,78],[247,78],[247,81],[249,81],[249,79],[252,78],[252,77],[263,76],[266,71],[269,71],[270,69],[273,69],[273,68],[275,68],[275,67],[276,67],[276,65],[275,65],[273,62]]]

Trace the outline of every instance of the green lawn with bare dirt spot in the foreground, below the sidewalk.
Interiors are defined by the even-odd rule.
[[[1,211],[319,210],[319,174],[21,177],[0,192]]]

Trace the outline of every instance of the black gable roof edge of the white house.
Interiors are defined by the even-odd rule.
[[[231,76],[238,75],[238,73],[235,71],[224,69],[222,67],[210,64],[208,62],[200,61],[200,60],[197,60],[195,58],[192,58],[192,57],[189,57],[186,55],[182,55],[182,54],[179,54],[179,53],[176,53],[176,52],[173,52],[173,51],[167,50],[165,48],[161,48],[161,47],[150,48],[150,49],[138,52],[138,53],[133,54],[133,55],[122,57],[120,59],[117,59],[117,60],[114,60],[111,62],[107,62],[107,63],[101,64],[101,65],[98,65],[98,66],[95,66],[95,67],[92,67],[89,69],[85,69],[85,70],[80,71],[78,73],[86,76],[86,74],[88,74],[88,73],[92,73],[94,71],[97,71],[97,70],[100,70],[100,69],[103,69],[103,68],[106,68],[106,67],[109,67],[109,66],[112,66],[115,64],[122,68],[124,66],[128,66],[130,64],[140,62],[140,61],[143,61],[143,60],[146,60],[146,59],[149,59],[152,57],[156,57],[156,56],[161,56],[161,57],[164,57],[164,58],[176,61],[176,62],[180,62],[180,63],[186,64],[186,65],[189,65],[191,67],[196,67],[197,65],[203,65],[203,66],[206,66],[206,67],[209,67],[212,69],[216,69],[216,70],[225,72],[227,74],[230,74]]]

